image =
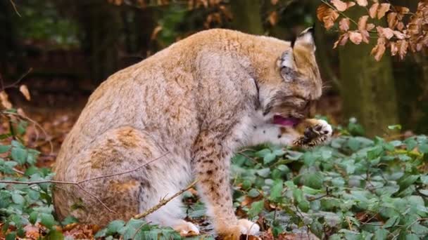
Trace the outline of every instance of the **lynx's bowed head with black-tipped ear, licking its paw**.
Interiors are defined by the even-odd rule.
[[[283,53],[274,72],[260,88],[263,115],[274,124],[294,126],[313,111],[322,93],[320,70],[315,60],[312,28],[303,31]]]

